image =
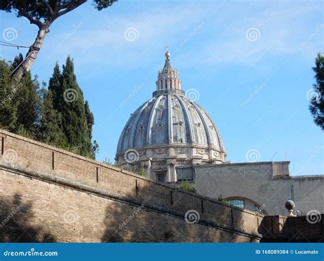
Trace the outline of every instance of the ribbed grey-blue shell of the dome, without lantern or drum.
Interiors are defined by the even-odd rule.
[[[167,145],[224,151],[210,116],[184,94],[157,94],[141,105],[131,115],[120,135],[117,154],[130,148]]]

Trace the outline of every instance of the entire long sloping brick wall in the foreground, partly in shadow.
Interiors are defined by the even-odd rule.
[[[24,233],[18,241],[260,239],[262,215],[3,130],[0,139],[1,217],[5,219],[21,206],[1,228],[1,241],[12,240],[10,234],[18,236],[25,228],[31,228],[31,236]],[[199,223],[185,221],[185,213],[192,210],[199,213]],[[134,212],[136,217],[120,229]]]

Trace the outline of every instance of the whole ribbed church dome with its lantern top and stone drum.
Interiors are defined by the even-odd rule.
[[[170,64],[170,53],[165,57],[157,90],[131,114],[122,130],[116,161],[133,171],[145,167],[152,179],[159,180],[157,175],[164,173],[167,181],[174,182],[176,166],[224,163],[226,152],[217,126],[200,105],[187,98],[178,71]]]

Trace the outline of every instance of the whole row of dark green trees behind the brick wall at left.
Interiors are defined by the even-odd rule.
[[[83,100],[72,59],[66,59],[62,73],[55,65],[49,90],[40,89],[30,72],[12,88],[10,74],[21,59],[11,65],[0,60],[0,128],[94,159],[99,150],[92,143],[94,115]]]

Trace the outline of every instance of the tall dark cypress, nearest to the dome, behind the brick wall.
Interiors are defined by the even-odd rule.
[[[53,108],[60,115],[59,126],[67,142],[66,149],[94,158],[94,146],[97,150],[97,144],[93,146],[91,141],[94,116],[89,104],[83,100],[70,57],[66,59],[62,74],[55,65],[49,90],[53,92]]]

